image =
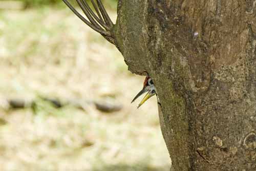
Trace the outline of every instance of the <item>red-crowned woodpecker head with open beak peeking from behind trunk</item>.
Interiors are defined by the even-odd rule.
[[[135,96],[132,102],[134,102],[138,97],[140,97],[142,94],[146,93],[145,97],[141,100],[141,102],[138,105],[138,108],[149,98],[156,95],[156,88],[153,82],[153,79],[151,77],[146,77],[143,83],[143,89]]]

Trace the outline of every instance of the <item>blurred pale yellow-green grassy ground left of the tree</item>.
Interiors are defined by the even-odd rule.
[[[61,1],[23,2],[0,1],[0,170],[169,170],[156,97],[131,104],[144,77]]]

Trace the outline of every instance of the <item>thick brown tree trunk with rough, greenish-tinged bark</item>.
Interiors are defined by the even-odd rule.
[[[171,170],[256,170],[255,4],[119,0],[115,43],[154,80]]]

